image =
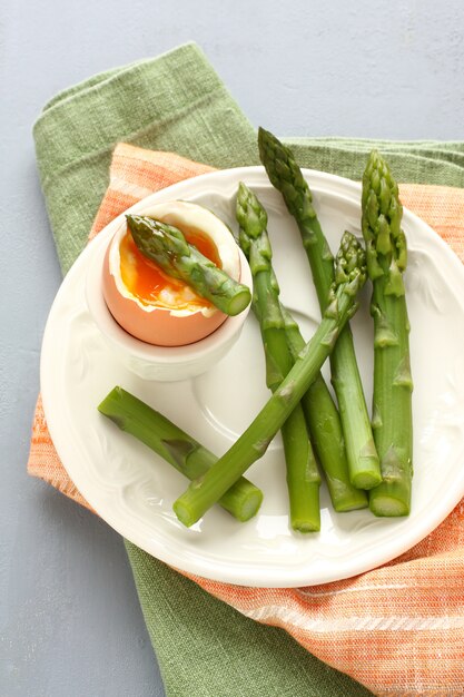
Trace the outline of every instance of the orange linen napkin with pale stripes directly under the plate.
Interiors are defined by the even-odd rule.
[[[171,153],[118,145],[90,237],[140,198],[210,170]],[[464,261],[464,189],[403,185],[401,196]],[[55,451],[40,397],[28,471],[88,505]],[[190,578],[247,617],[284,628],[378,696],[464,695],[464,500],[408,552],[344,581],[266,589]]]

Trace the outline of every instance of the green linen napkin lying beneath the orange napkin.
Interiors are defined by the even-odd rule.
[[[192,43],[61,92],[45,107],[33,134],[63,273],[86,244],[118,141],[220,168],[259,164],[254,128]],[[366,153],[378,145],[401,180],[464,187],[462,144],[289,143],[302,166],[314,169],[361,179]],[[243,617],[134,544],[126,548],[168,697],[371,694],[283,630]]]

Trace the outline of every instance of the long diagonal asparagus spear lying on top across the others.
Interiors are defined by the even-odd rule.
[[[356,295],[366,278],[365,254],[349,233],[345,233],[342,238],[336,266],[324,317],[289,373],[234,445],[175,501],[174,510],[185,526],[189,527],[201,518],[264,455],[277,431],[315,380],[340,331],[356,312]]]

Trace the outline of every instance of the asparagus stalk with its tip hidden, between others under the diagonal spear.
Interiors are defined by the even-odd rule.
[[[288,310],[283,306],[282,312],[288,346],[295,361],[306,342]],[[344,512],[366,508],[365,491],[353,487],[349,481],[340,418],[320,373],[303,395],[300,404],[313,448],[326,477],[334,510]]]

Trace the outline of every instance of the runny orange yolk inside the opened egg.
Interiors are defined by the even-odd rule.
[[[196,228],[182,226],[187,242],[221,268],[221,261],[215,243]],[[144,305],[156,305],[175,310],[211,307],[211,303],[200,297],[186,283],[168,276],[157,264],[147,258],[137,247],[128,230],[120,246],[120,273],[126,288]]]

